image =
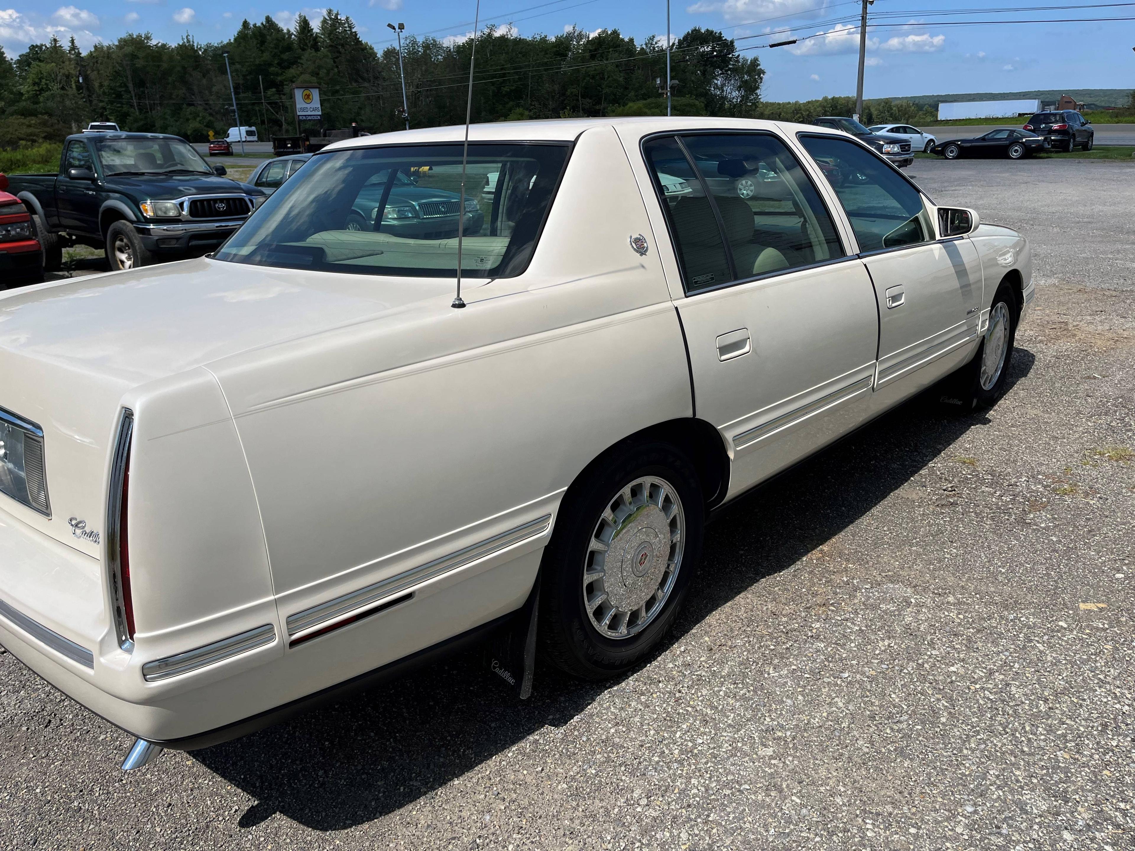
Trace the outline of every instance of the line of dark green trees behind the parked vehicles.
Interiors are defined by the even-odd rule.
[[[461,124],[472,40],[403,41],[411,127]],[[241,124],[260,137],[296,132],[293,85],[318,85],[322,126],[356,123],[372,133],[400,129],[402,82],[394,45],[363,41],[354,22],[328,11],[316,26],[300,15],[285,28],[271,17],[244,20],[232,40],[188,35],[176,44],[124,35],[85,53],[74,39],[33,44],[14,60],[0,49],[0,149],[58,142],[92,120],[124,129],[174,133],[194,142],[236,125],[224,51],[228,51]],[[671,50],[674,112],[808,121],[850,115],[854,99],[763,103],[765,71],[721,32],[695,27]],[[521,37],[489,27],[477,39],[473,121],[577,116],[664,115],[665,45],[617,30]],[[925,121],[928,109],[875,101],[873,121]],[[924,115],[926,113],[926,115]],[[930,116],[933,119],[933,116]],[[305,123],[314,134],[318,125]]]

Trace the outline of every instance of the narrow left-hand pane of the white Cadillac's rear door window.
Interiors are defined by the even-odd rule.
[[[686,154],[673,138],[656,138],[645,148],[647,163],[666,199],[670,233],[682,264],[686,290],[693,292],[732,279],[721,228],[709,200]]]

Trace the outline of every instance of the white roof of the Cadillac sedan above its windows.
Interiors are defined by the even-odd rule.
[[[630,135],[648,136],[654,133],[706,129],[779,129],[782,133],[798,130],[815,132],[813,125],[792,124],[789,121],[766,121],[755,118],[709,118],[709,117],[654,117],[636,116],[630,118],[558,118],[539,121],[495,121],[491,124],[473,124],[469,126],[470,142],[573,142],[580,134],[596,127],[615,127],[631,130]],[[464,138],[465,126],[423,127],[413,130],[396,130],[394,133],[377,133],[372,136],[358,136],[334,142],[323,151],[342,151],[352,148],[377,148],[379,145],[407,145],[461,142]],[[317,154],[318,155],[318,154]]]

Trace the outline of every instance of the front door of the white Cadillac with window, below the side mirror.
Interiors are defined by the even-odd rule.
[[[977,339],[977,250],[968,238],[935,239],[918,188],[863,145],[810,134],[800,142],[838,174],[856,176],[834,180],[833,188],[878,298],[875,388],[920,389],[953,369]]]

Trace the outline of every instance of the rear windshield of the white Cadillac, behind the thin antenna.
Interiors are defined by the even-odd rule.
[[[289,269],[510,278],[528,267],[566,144],[460,144],[316,154],[215,255]]]

